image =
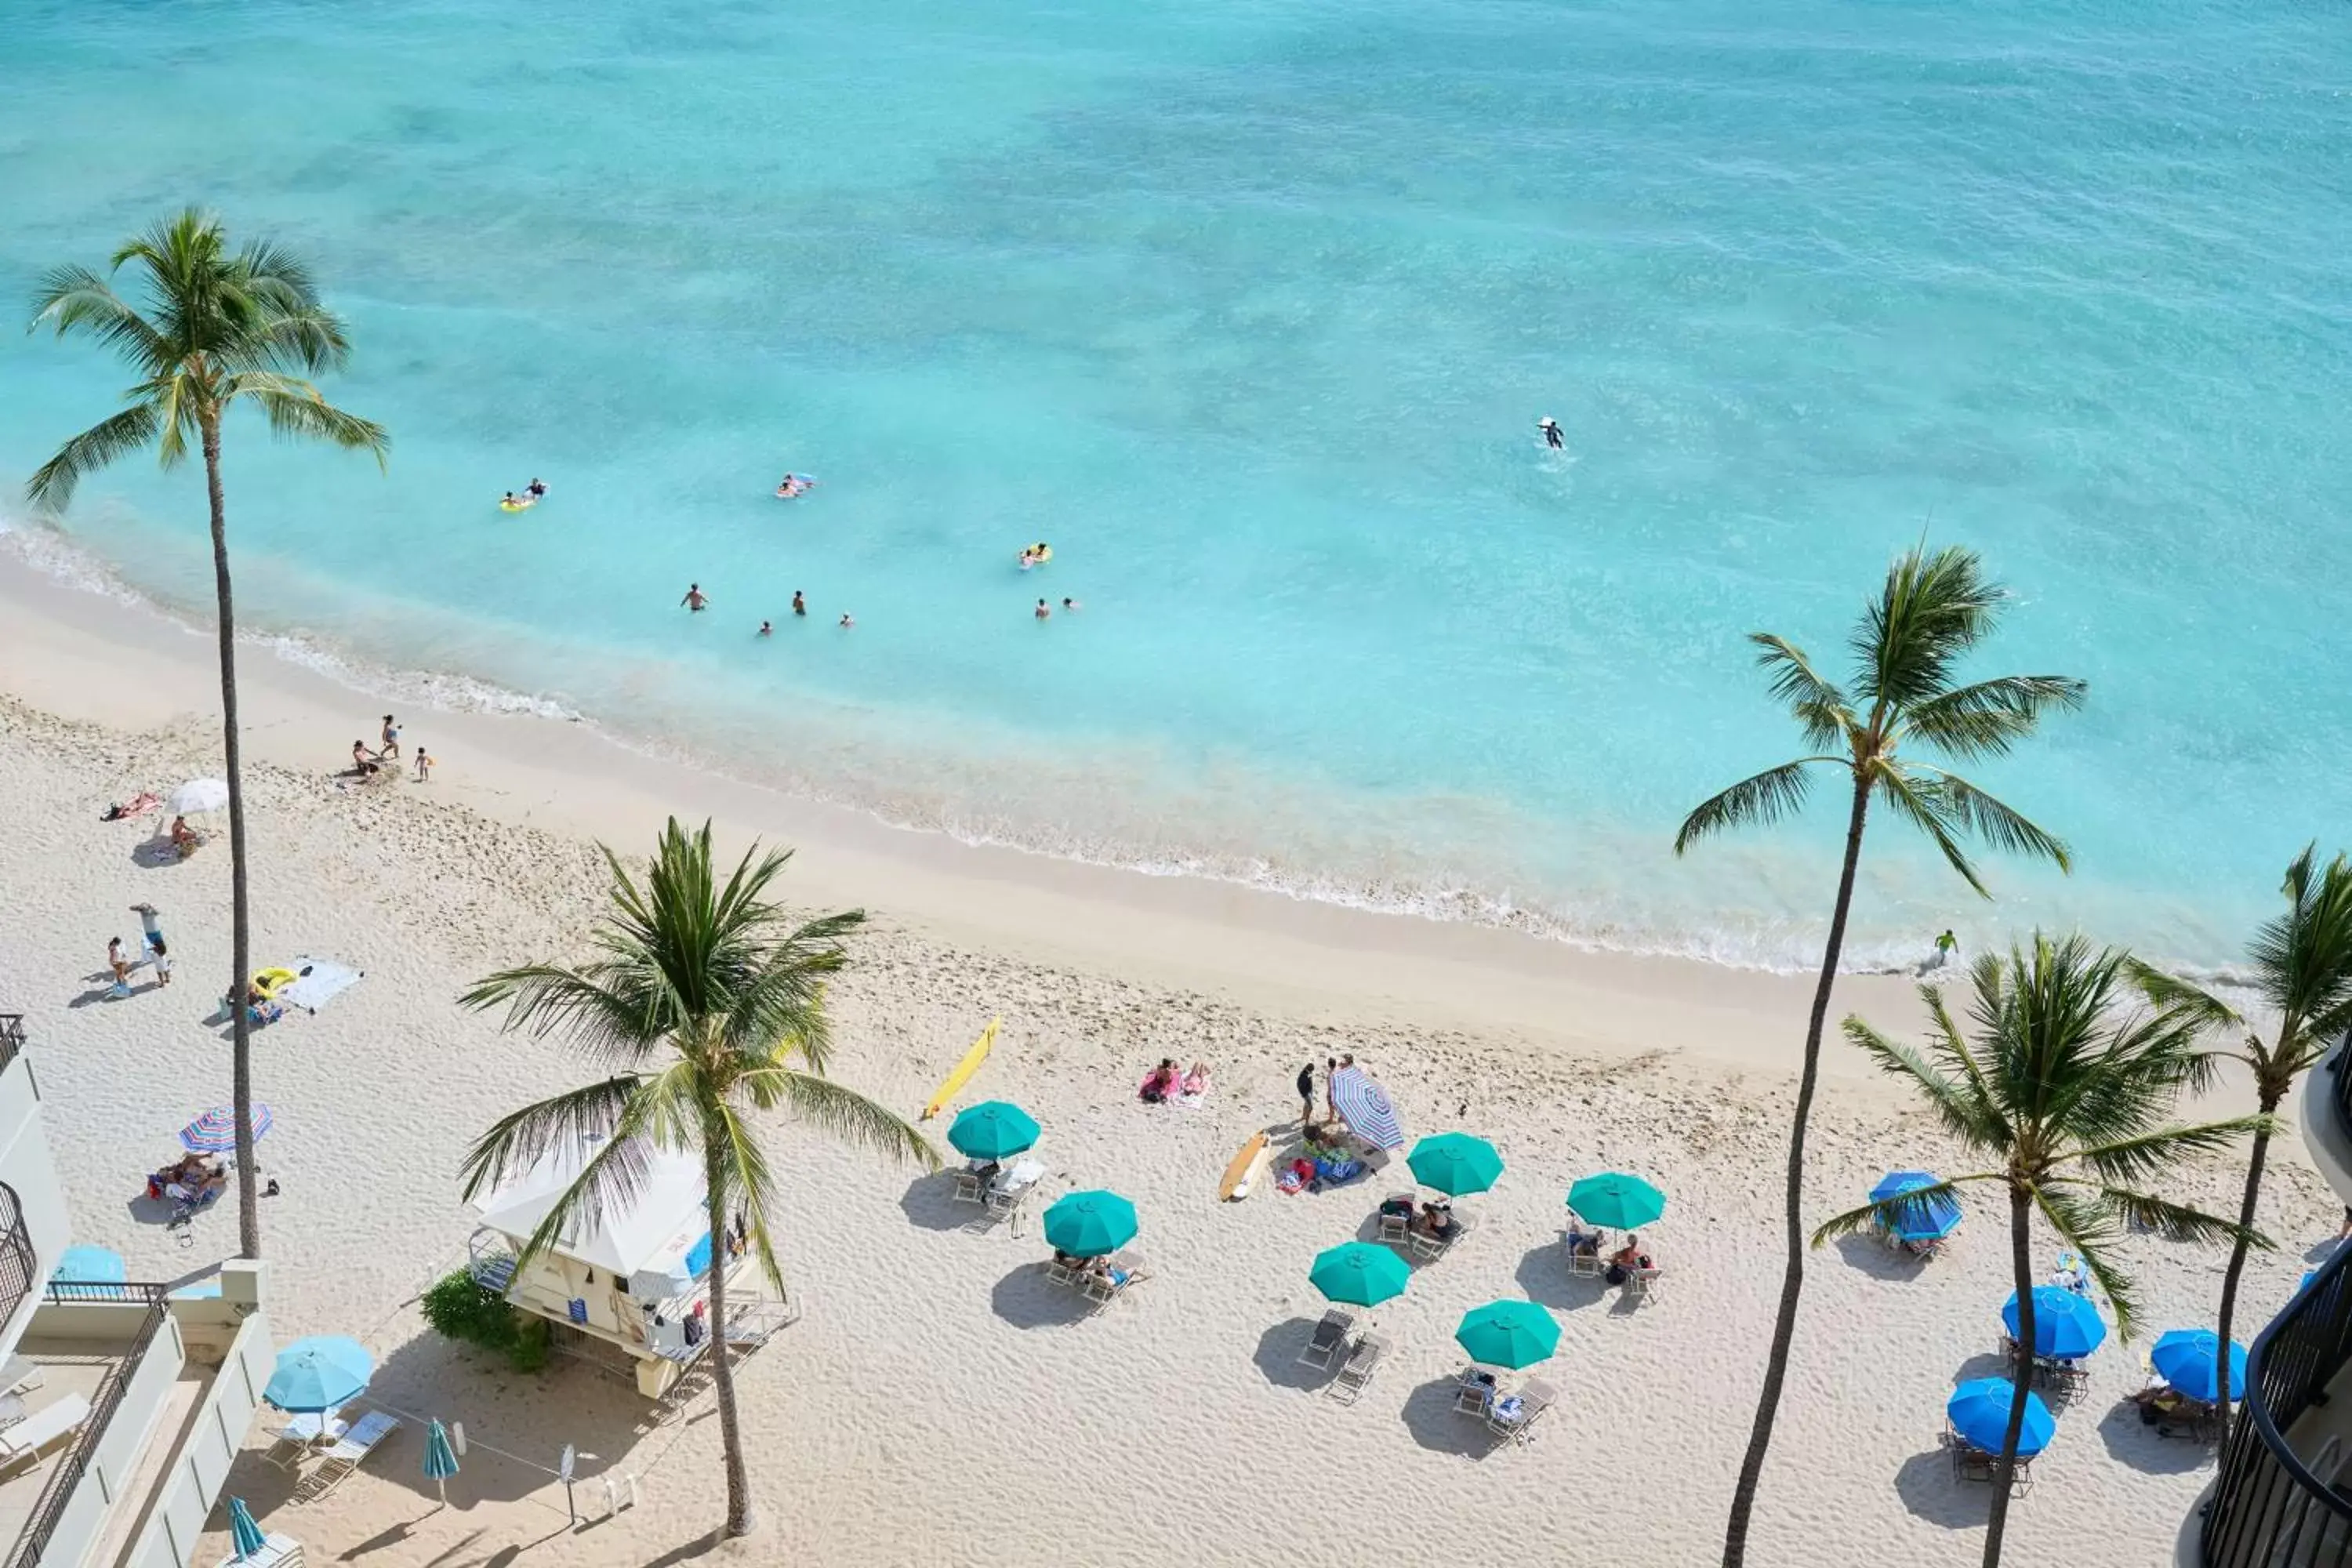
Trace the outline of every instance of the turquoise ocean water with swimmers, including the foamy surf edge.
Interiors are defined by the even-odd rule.
[[[1832,656],[1926,531],[2018,588],[1999,665],[2091,679],[1983,773],[2079,872],[1983,907],[1882,823],[1863,961],[2218,961],[2352,823],[2338,7],[35,0],[0,188],[9,301],[186,200],[315,259],[397,449],[233,430],[242,611],[419,698],[1795,964],[1835,804],[1668,844],[1797,750],[1740,632]],[[0,331],[0,484],[122,381]],[[207,592],[193,475],[64,527]]]

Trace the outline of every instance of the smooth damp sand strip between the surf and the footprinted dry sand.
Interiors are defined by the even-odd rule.
[[[240,644],[247,757],[334,773],[350,736],[402,698]],[[0,552],[0,689],[42,712],[153,729],[219,722],[214,644],[160,607]],[[1211,877],[1065,860],[724,778],[534,712],[402,715],[430,785],[402,790],[492,820],[623,851],[659,823],[710,816],[729,844],[795,849],[795,898],[863,905],[962,945],[1143,978],[1331,1023],[1508,1032],[1573,1053],[1672,1051],[1792,1074],[1813,976],[1581,947],[1505,926],[1319,903]],[[125,780],[125,792],[139,788]],[[1837,1011],[1905,1018],[1915,980],[1844,973]],[[1771,1020],[1769,1027],[1757,1027]],[[1639,1041],[1639,1044],[1628,1044]],[[1825,1053],[1830,1058],[1842,1053]],[[1846,1070],[1851,1072],[1851,1070]],[[1853,1072],[1853,1077],[1860,1077]]]

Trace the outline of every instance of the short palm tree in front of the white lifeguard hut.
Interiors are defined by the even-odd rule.
[[[670,818],[644,886],[607,849],[612,914],[590,936],[595,957],[579,966],[527,964],[489,976],[461,1001],[506,1006],[508,1030],[562,1032],[607,1067],[583,1088],[503,1117],[463,1161],[473,1199],[539,1159],[602,1138],[579,1180],[522,1248],[536,1258],[574,1222],[626,1208],[644,1182],[647,1152],[699,1152],[710,1234],[724,1237],[734,1211],[750,1253],[776,1295],[783,1269],[769,1234],[776,1178],[753,1112],[786,1107],[828,1133],[901,1159],[938,1166],[922,1133],[873,1100],[826,1077],[833,1032],[826,976],[849,952],[863,910],[807,924],[769,900],[790,853],[753,844],[720,886],[710,870],[710,823],[687,832]],[[710,1269],[710,1382],[727,1450],[727,1533],[753,1526],[734,1368],[727,1363],[727,1253]]]

